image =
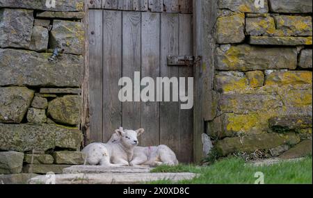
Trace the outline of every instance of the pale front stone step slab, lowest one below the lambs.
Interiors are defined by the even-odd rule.
[[[56,184],[136,184],[149,181],[171,180],[173,182],[193,179],[199,174],[194,173],[102,173],[102,174],[57,174]],[[47,178],[35,176],[30,184],[46,183]]]

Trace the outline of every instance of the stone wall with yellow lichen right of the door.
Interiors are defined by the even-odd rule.
[[[218,154],[312,154],[312,1],[218,0],[218,8],[216,117],[207,122]]]

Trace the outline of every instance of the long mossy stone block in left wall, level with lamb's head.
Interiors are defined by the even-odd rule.
[[[0,150],[47,151],[55,147],[78,150],[82,140],[83,134],[78,129],[55,124],[0,124]]]

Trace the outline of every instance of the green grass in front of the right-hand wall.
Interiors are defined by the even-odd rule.
[[[179,184],[253,184],[255,173],[264,173],[265,184],[312,184],[312,156],[297,162],[282,162],[275,165],[255,167],[245,165],[240,158],[218,160],[207,167],[178,165],[160,166],[152,172],[194,172],[200,174],[195,179],[179,181]],[[171,184],[171,181],[154,181],[152,184]]]

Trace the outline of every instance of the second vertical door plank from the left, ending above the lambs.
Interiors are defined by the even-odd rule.
[[[122,104],[118,100],[122,77],[122,12],[104,10],[103,19],[103,141],[122,124]],[[95,101],[98,102],[98,101]]]

